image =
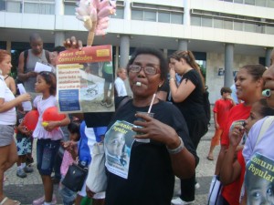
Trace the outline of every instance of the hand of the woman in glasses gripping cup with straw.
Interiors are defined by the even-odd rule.
[[[135,120],[134,125],[142,128],[132,128],[133,131],[142,133],[136,135],[135,138],[151,138],[155,141],[162,142],[169,149],[177,148],[180,144],[180,139],[174,128],[163,124],[157,119],[154,119],[146,114],[137,113],[136,118],[142,118],[144,121]]]

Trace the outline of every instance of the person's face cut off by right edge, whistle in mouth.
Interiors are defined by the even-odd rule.
[[[270,96],[267,97],[267,102],[270,108],[274,108],[274,65],[269,67],[264,74],[263,79],[265,81],[265,89],[270,89]]]

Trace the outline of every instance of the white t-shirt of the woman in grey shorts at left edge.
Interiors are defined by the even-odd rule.
[[[12,91],[6,86],[3,76],[0,76],[0,98],[4,98],[5,102],[9,102],[15,98]],[[11,108],[0,113],[0,124],[16,125],[16,108]]]

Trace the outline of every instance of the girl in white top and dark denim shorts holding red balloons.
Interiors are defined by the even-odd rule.
[[[67,126],[68,116],[60,121],[48,121],[45,127],[42,126],[43,113],[47,108],[57,107],[56,99],[56,77],[53,73],[42,71],[37,75],[35,85],[37,93],[42,95],[34,99],[33,107],[37,108],[39,118],[37,127],[33,132],[33,138],[37,138],[37,169],[41,176],[45,196],[34,200],[33,205],[51,205],[55,204],[53,199],[53,183],[51,172],[54,160],[60,146],[60,139],[63,138],[63,132],[59,127]]]

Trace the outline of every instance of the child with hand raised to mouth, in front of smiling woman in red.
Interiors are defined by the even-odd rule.
[[[227,149],[227,153],[225,155],[224,162],[220,171],[220,180],[222,184],[227,185],[240,178],[237,189],[235,190],[237,191],[238,199],[244,181],[246,164],[242,155],[242,150],[237,152],[237,160],[235,160],[237,146],[242,140],[245,131],[248,133],[250,128],[259,119],[272,115],[274,115],[274,109],[269,108],[267,100],[262,98],[252,105],[250,116],[246,120],[245,127],[237,125],[229,132],[229,147]]]

